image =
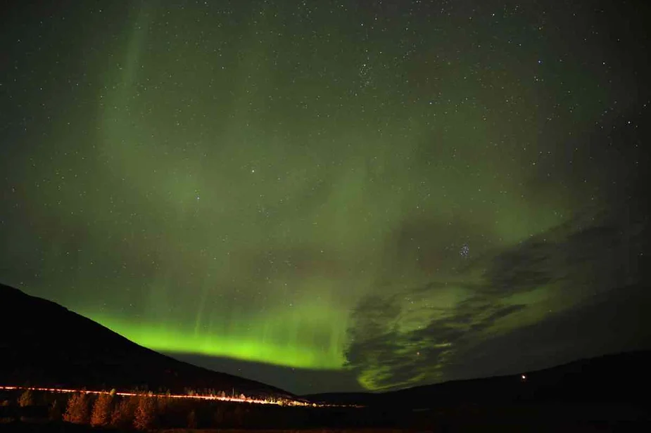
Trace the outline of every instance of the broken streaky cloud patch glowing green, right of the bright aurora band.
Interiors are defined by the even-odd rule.
[[[413,290],[411,295],[441,290],[441,287],[445,286],[433,283]],[[500,318],[524,309],[522,305],[490,302],[483,295],[473,295],[458,304],[451,314],[433,317],[421,328],[405,331],[400,330],[399,322],[409,313],[401,306],[400,299],[367,297],[352,316],[347,366],[358,376],[369,372],[372,379],[366,386],[389,389],[441,380],[457,347],[476,340]],[[374,375],[374,370],[381,374]]]

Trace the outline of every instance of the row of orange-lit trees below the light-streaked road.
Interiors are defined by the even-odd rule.
[[[14,405],[45,406],[51,422],[72,422],[120,430],[368,428],[380,425],[384,427],[387,421],[384,417],[378,418],[378,413],[358,408],[312,408],[179,399],[145,391],[122,396],[116,394],[115,390],[101,394],[65,394],[27,389],[20,396],[16,393],[16,396],[12,403]]]

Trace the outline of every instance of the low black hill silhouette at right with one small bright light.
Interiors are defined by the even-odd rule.
[[[326,403],[433,408],[465,403],[642,403],[651,401],[651,351],[581,359],[514,375],[454,380],[383,393],[305,396]]]

